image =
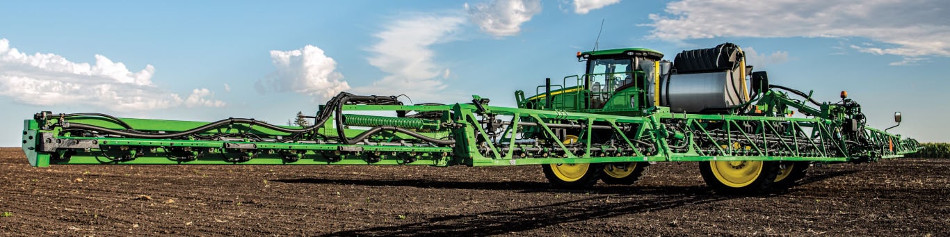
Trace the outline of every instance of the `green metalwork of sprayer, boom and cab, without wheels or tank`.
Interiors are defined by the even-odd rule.
[[[619,48],[579,53],[578,57],[579,60],[582,57],[659,60],[662,54],[646,48]],[[522,91],[517,91],[518,108],[489,106],[487,100],[478,96],[473,96],[472,103],[449,105],[345,104],[338,109],[351,114],[328,118],[317,129],[295,134],[255,126],[255,122],[231,122],[188,136],[134,138],[91,133],[70,125],[85,124],[119,131],[128,129],[122,124],[125,123],[134,128],[132,132],[157,135],[189,131],[210,123],[118,118],[120,122],[102,116],[66,117],[44,112],[25,120],[23,150],[30,165],[42,167],[51,164],[504,166],[713,160],[867,162],[901,157],[921,149],[914,139],[863,125],[860,131],[846,130],[848,119],[856,117],[845,105],[823,103],[818,108],[809,107],[804,100],[792,100],[786,94],[769,90],[757,95],[756,100],[750,100],[750,103],[756,101],[755,104],[737,106],[754,106],[761,111],[753,116],[732,111],[723,115],[677,114],[666,107],[636,102],[647,100],[648,84],[634,84],[621,91],[607,86],[607,92],[595,93],[584,88],[584,80],[591,76],[596,75],[564,77],[561,84],[550,85],[554,90],[542,93],[547,86],[539,86],[536,95],[527,99]],[[548,96],[551,98],[546,98]],[[594,98],[606,99],[605,105],[592,106]],[[843,101],[856,105],[850,100]],[[321,106],[321,109],[332,109],[326,107],[329,106]],[[791,109],[810,118],[787,118]],[[416,111],[439,116],[393,118],[352,114],[360,111],[393,114]],[[347,126],[342,135],[334,127],[337,122]],[[384,126],[390,130],[365,137],[356,144],[341,141],[358,137],[368,128]],[[394,132],[399,130],[393,127],[403,132]],[[578,137],[577,142],[565,144],[563,141],[568,136]],[[862,140],[857,142],[853,137]],[[454,143],[436,144],[432,139]]]

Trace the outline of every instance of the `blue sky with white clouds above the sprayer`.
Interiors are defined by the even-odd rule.
[[[346,91],[515,106],[578,51],[734,43],[769,82],[839,92],[870,126],[950,132],[941,0],[10,1],[0,4],[0,146],[41,111],[286,124]],[[602,30],[599,30],[601,23]],[[598,40],[598,34],[600,34]]]

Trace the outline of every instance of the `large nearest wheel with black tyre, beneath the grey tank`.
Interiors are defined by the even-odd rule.
[[[778,174],[778,162],[758,160],[699,162],[699,173],[712,190],[750,194],[766,191]]]

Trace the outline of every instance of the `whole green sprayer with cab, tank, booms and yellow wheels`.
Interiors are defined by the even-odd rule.
[[[618,164],[624,171],[654,161],[702,161],[712,171],[715,164],[736,170],[759,164],[758,173],[772,169],[776,177],[790,171],[790,164],[868,162],[920,149],[914,139],[865,126],[861,105],[844,96],[817,102],[810,93],[769,84],[765,72],[751,72],[738,46],[683,51],[675,62],[662,57],[646,48],[579,52],[584,74],[548,79],[531,97],[515,92],[517,108],[491,106],[478,96],[406,105],[391,96],[340,93],[308,117],[314,125],[306,127],[252,118],[205,122],[41,112],[24,121],[23,150],[30,165],[41,167],[543,165],[552,183],[571,187],[578,180],[589,183],[587,173],[614,175]],[[361,115],[370,111],[393,116]],[[799,116],[791,116],[795,112]],[[582,173],[571,173],[580,167]],[[723,175],[719,183],[727,186],[718,190],[747,191],[731,187],[744,181]],[[779,182],[774,179],[767,181]]]

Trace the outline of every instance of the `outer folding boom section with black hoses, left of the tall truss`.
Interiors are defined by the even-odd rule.
[[[344,115],[343,107],[425,111],[406,118]],[[24,124],[30,165],[49,164],[416,164],[448,165],[442,118],[451,106],[403,106],[394,97],[349,93],[328,101],[310,126],[253,118],[213,122],[42,112]],[[434,113],[433,113],[434,112]],[[427,118],[411,118],[413,116]],[[346,122],[345,122],[346,121]],[[369,129],[350,127],[369,126]],[[448,137],[448,139],[444,139]]]

